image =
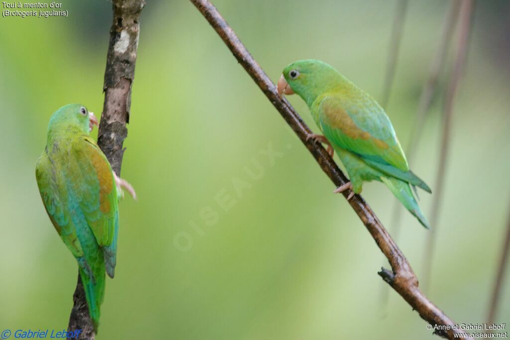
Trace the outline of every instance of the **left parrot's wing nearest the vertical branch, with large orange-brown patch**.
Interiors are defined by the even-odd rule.
[[[103,247],[106,271],[115,272],[119,229],[118,197],[113,171],[103,151],[89,137],[80,136],[73,147],[74,192],[97,244]]]

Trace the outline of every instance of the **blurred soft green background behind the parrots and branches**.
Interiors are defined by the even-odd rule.
[[[317,58],[380,99],[396,2],[215,5],[274,81],[288,63]],[[475,9],[429,255],[429,297],[458,323],[486,321],[508,215],[509,5]],[[103,108],[111,3],[63,8],[69,17],[0,18],[0,329],[64,329],[72,306],[77,264],[46,216],[34,169],[55,110]],[[387,110],[404,148],[448,8],[434,0],[407,9]],[[289,100],[317,131],[304,102]],[[439,98],[411,164],[432,187],[441,106]],[[122,176],[139,199],[120,204],[98,339],[434,338],[395,292],[381,303],[377,271],[387,265],[373,239],[189,2],[148,1],[142,13],[124,145]],[[391,193],[373,183],[363,195],[389,225]],[[427,216],[432,199],[421,195]],[[427,231],[402,214],[397,242],[420,278]],[[509,284],[497,323],[510,323]]]

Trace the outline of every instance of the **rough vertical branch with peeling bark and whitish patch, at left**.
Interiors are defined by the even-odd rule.
[[[105,102],[99,124],[97,145],[107,156],[113,171],[120,176],[131,108],[131,87],[135,78],[135,64],[140,34],[140,14],[144,0],[113,0],[113,23],[106,60]],[[74,306],[69,317],[68,331],[81,329],[80,339],[94,339],[95,332],[89,316],[82,280],[73,296]]]

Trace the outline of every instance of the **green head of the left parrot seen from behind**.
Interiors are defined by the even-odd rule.
[[[49,118],[48,137],[63,133],[89,134],[97,118],[82,104],[67,104],[61,107]]]

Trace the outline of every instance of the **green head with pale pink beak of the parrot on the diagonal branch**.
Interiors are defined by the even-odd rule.
[[[284,68],[278,81],[278,93],[297,93],[310,106],[315,98],[338,87],[344,77],[331,65],[320,60],[298,60]]]

